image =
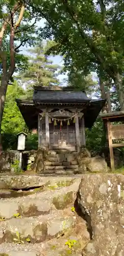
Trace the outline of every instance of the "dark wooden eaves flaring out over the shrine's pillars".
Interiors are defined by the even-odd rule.
[[[20,100],[16,99],[16,103],[18,105],[18,108],[23,116],[24,121],[26,122],[29,129],[37,129],[38,126],[38,113],[40,113],[40,109],[37,108],[37,106],[75,106],[75,108],[78,108],[79,106],[82,106],[83,113],[84,113],[84,121],[85,121],[85,127],[91,128],[93,123],[95,122],[98,114],[100,113],[101,109],[105,105],[106,100],[89,100],[88,102],[83,103],[56,103],[56,102],[45,102],[45,103],[39,103],[34,102],[31,100]]]

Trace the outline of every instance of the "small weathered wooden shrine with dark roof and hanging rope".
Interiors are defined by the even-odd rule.
[[[85,127],[92,127],[106,100],[66,87],[35,87],[33,100],[16,102],[29,129],[38,129],[39,146],[78,150],[86,144]]]

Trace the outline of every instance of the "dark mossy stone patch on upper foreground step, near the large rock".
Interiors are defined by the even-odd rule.
[[[53,198],[53,204],[56,206],[56,208],[64,209],[67,207],[67,205],[72,204],[74,199],[74,193],[73,191],[69,191],[64,195],[60,195],[58,197]]]

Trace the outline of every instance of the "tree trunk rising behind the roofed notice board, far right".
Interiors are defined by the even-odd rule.
[[[119,73],[117,73],[114,78],[115,86],[119,96],[120,102],[120,110],[124,110],[124,92],[123,92],[123,84],[122,84],[122,77]]]

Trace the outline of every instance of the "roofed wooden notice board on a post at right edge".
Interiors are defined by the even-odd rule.
[[[101,115],[107,126],[110,161],[112,171],[114,166],[113,147],[124,147],[124,111],[108,112]]]

